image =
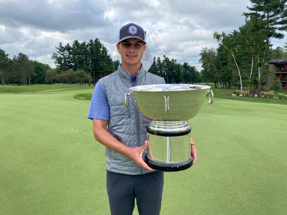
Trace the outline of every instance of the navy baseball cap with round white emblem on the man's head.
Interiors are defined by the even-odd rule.
[[[129,38],[140,39],[146,44],[144,29],[137,24],[129,23],[121,27],[117,43]]]

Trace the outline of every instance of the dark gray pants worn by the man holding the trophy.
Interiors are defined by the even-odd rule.
[[[126,175],[107,171],[107,191],[112,215],[132,215],[137,199],[140,215],[158,215],[164,172]]]

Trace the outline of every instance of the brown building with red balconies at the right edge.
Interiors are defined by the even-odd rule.
[[[275,79],[280,78],[282,89],[287,89],[287,59],[272,59],[268,61],[268,70],[275,71],[275,76],[268,77],[267,87],[272,87]]]

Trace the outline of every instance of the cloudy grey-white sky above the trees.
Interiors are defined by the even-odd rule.
[[[99,38],[113,60],[118,31],[130,22],[147,32],[153,56],[164,54],[201,70],[202,47],[217,47],[213,32],[244,24],[245,0],[0,0],[0,48],[10,58],[22,52],[54,67],[59,42]],[[274,47],[283,40],[272,40]]]

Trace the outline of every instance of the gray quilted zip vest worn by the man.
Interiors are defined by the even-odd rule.
[[[128,97],[128,107],[125,107],[125,93],[132,87],[131,73],[121,66],[118,70],[99,80],[110,106],[110,120],[108,132],[118,141],[130,148],[140,147],[147,140],[146,119],[137,109],[132,98]],[[143,66],[137,73],[136,84],[150,85],[164,84],[164,79],[144,70]],[[147,151],[144,151],[144,155]],[[116,173],[139,175],[148,173],[146,169],[139,167],[132,159],[106,148],[107,170]]]

